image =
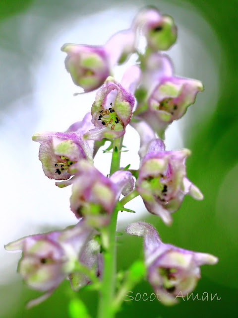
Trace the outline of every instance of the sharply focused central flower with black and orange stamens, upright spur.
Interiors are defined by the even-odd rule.
[[[116,139],[124,135],[132,116],[133,92],[140,79],[140,70],[132,66],[125,72],[121,84],[109,77],[97,92],[91,114],[95,129],[84,135],[85,139]]]

